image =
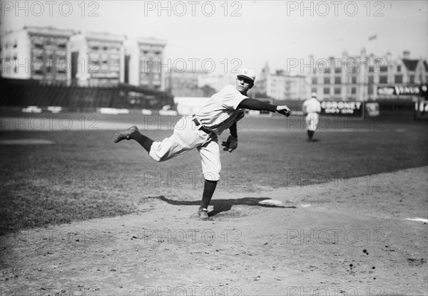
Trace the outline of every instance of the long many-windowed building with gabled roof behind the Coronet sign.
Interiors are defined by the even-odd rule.
[[[409,51],[403,57],[392,60],[391,54],[367,55],[363,48],[360,56],[342,58],[320,58],[310,56],[310,91],[321,100],[377,100],[410,99],[411,91],[398,93],[394,88],[417,87],[427,83],[427,62],[409,58]],[[389,89],[391,91],[379,91]]]

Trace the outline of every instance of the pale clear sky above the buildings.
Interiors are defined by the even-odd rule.
[[[300,73],[361,49],[427,59],[428,1],[4,1],[1,31],[54,26],[161,38],[165,69]],[[376,36],[371,41],[369,38]],[[296,64],[297,63],[297,64]]]

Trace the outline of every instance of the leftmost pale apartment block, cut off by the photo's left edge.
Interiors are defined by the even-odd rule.
[[[46,84],[71,81],[71,30],[26,26],[1,34],[1,77]]]

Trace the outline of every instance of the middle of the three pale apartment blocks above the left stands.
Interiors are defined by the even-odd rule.
[[[125,35],[78,33],[71,36],[71,79],[81,86],[113,86],[125,76]]]

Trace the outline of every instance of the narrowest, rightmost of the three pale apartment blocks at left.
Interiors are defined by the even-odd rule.
[[[163,65],[163,50],[166,41],[156,38],[138,38],[126,45],[125,83],[165,90],[163,73],[168,72],[168,63]]]

